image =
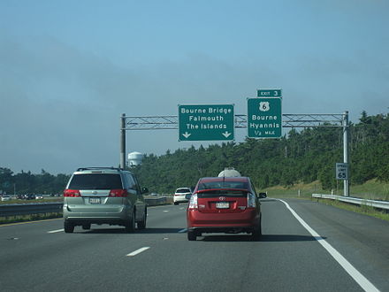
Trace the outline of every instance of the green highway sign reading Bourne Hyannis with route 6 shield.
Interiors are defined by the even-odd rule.
[[[280,97],[248,98],[248,138],[280,138],[282,111]]]

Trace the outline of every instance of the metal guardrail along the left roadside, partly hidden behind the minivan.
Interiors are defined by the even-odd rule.
[[[148,206],[166,204],[166,196],[146,197],[145,201]],[[0,217],[60,213],[63,205],[63,203],[1,204]]]

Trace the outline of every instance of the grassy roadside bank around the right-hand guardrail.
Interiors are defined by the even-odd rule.
[[[328,189],[323,189],[319,181],[314,181],[309,184],[298,183],[290,188],[285,188],[281,186],[264,188],[258,190],[258,192],[267,192],[268,196],[275,198],[301,198],[316,200],[319,203],[332,205],[334,207],[344,209],[347,211],[355,211],[362,213],[368,216],[372,216],[378,219],[384,219],[389,221],[389,212],[380,211],[374,207],[367,205],[354,205],[339,202],[338,200],[325,200],[312,198],[312,194],[326,194],[331,195],[332,191]],[[333,195],[343,196],[343,182],[339,182],[339,188],[333,190]],[[350,196],[370,199],[370,200],[384,200],[389,201],[389,183],[380,182],[377,180],[367,181],[362,185],[351,186],[350,187]]]

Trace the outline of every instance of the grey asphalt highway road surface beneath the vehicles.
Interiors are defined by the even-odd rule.
[[[148,228],[63,220],[0,226],[2,291],[389,291],[389,222],[313,201],[263,200],[263,237],[188,242],[186,204],[149,207]]]

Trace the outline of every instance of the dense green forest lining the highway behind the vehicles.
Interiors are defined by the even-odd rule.
[[[368,116],[350,123],[350,173],[352,184],[371,179],[389,181],[389,114]],[[292,129],[280,139],[247,139],[245,142],[212,144],[208,148],[167,150],[162,156],[145,156],[133,167],[142,186],[150,191],[172,193],[175,188],[195,186],[203,176],[216,176],[234,167],[250,176],[257,188],[290,187],[320,181],[324,189],[336,188],[335,163],[343,162],[341,127]],[[68,174],[21,172],[0,167],[0,189],[13,194],[57,194],[65,188]]]

